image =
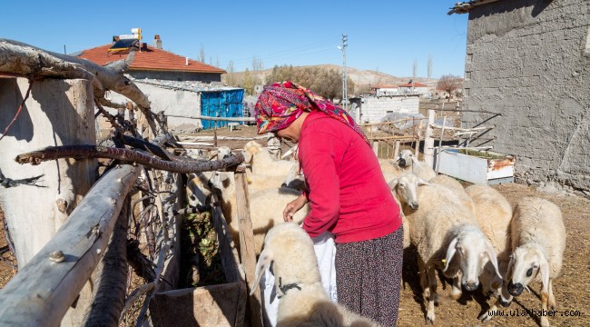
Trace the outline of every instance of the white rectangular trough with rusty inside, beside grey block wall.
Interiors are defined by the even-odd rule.
[[[447,148],[437,150],[436,154],[438,173],[471,183],[514,182],[516,157],[513,155],[469,148]]]

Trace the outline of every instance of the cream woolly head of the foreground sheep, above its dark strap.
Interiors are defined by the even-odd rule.
[[[284,283],[320,282],[320,270],[310,236],[296,223],[280,223],[270,229],[256,263],[251,294],[272,263],[272,272]],[[279,280],[280,278],[280,280]]]

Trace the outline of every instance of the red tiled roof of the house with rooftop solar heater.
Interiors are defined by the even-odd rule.
[[[92,49],[84,50],[78,57],[92,61],[95,64],[107,64],[113,61],[125,59],[128,54],[109,52],[111,45],[101,45]],[[133,62],[129,65],[131,70],[154,70],[154,71],[177,71],[194,73],[227,73],[221,68],[189,59],[186,65],[186,58],[178,54],[156,49],[150,45],[143,48],[141,52],[136,51]]]

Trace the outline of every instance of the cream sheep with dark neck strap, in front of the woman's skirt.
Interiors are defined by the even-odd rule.
[[[379,326],[332,302],[321,285],[311,238],[296,223],[280,223],[266,235],[250,295],[256,292],[270,263],[279,298],[278,327]]]

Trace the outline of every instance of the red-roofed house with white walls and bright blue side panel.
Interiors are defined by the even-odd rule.
[[[113,37],[113,43],[84,50],[78,57],[96,64],[108,64],[127,58],[133,60],[125,75],[148,96],[152,111],[165,114],[217,117],[241,117],[243,114],[243,89],[221,84],[223,69],[192,60],[162,49],[160,35],[155,35],[153,45],[140,43],[139,39]],[[120,94],[113,94],[114,102],[124,102]],[[220,122],[222,126],[227,122]],[[181,117],[169,117],[172,131],[191,132],[210,128],[213,123]]]

